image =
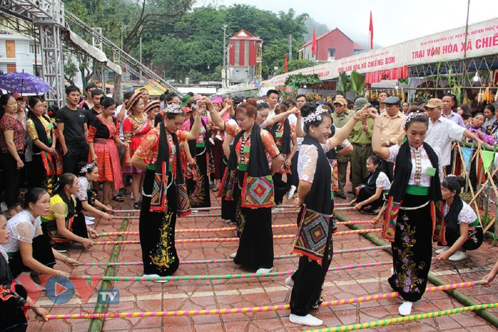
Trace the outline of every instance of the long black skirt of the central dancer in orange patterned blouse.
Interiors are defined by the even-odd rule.
[[[239,172],[239,183],[244,172]],[[236,210],[237,230],[240,241],[234,263],[249,269],[269,269],[273,267],[273,231],[271,229],[271,208],[251,209],[241,206],[241,190]]]

